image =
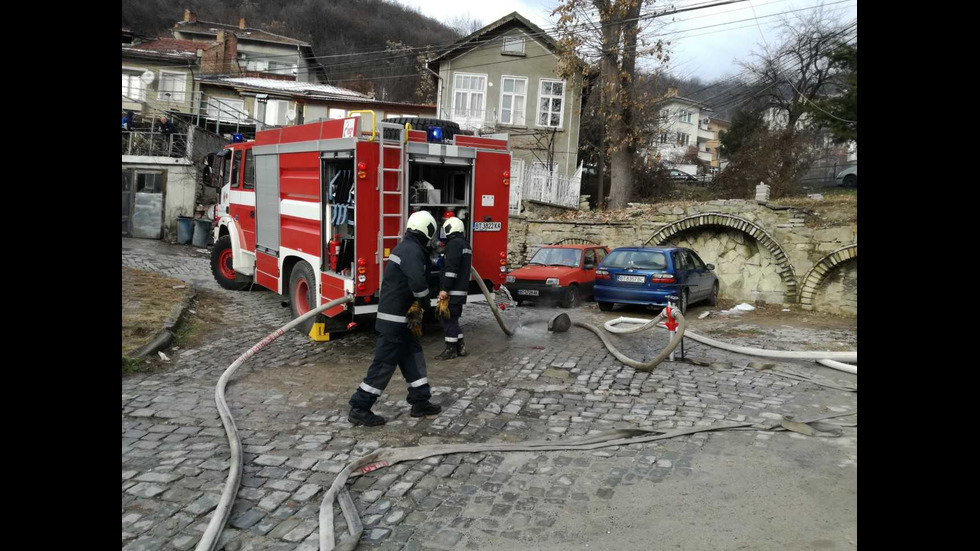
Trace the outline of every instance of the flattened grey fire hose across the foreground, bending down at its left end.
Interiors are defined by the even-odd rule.
[[[823,423],[825,419],[835,417],[849,417],[857,415],[856,411],[847,413],[831,413],[822,415],[807,421],[796,421],[790,417],[784,417],[779,421],[770,423],[730,423],[708,427],[691,427],[671,431],[658,431],[648,429],[616,429],[603,431],[593,435],[568,440],[537,440],[529,442],[516,442],[513,444],[436,444],[431,446],[412,446],[407,448],[381,448],[367,455],[352,460],[344,467],[337,477],[334,478],[330,489],[323,495],[320,502],[320,515],[318,523],[320,525],[320,551],[352,551],[357,547],[364,532],[364,524],[351,498],[350,491],[347,489],[347,481],[351,477],[360,476],[383,467],[390,467],[402,461],[418,461],[436,455],[449,455],[454,453],[477,453],[477,452],[539,452],[539,451],[574,451],[574,450],[595,450],[610,446],[625,446],[628,444],[638,444],[676,438],[699,432],[715,432],[724,430],[766,430],[766,431],[793,431],[807,436],[840,436],[840,427],[857,426],[851,424]],[[341,513],[347,523],[347,530],[350,535],[339,542],[335,541],[334,535],[334,514],[333,504],[337,501],[340,505]]]

